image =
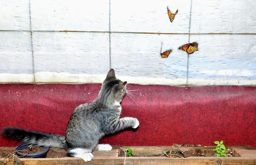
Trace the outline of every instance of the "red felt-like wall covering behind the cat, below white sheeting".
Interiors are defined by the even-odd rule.
[[[137,98],[126,96],[122,117],[137,117],[138,129],[102,139],[123,146],[201,144],[256,147],[256,87],[129,85]],[[0,84],[0,129],[65,134],[72,110],[96,99],[100,84]],[[0,146],[17,142],[3,139]]]

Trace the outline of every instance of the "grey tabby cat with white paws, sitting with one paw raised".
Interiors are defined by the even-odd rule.
[[[137,128],[139,121],[133,117],[120,118],[120,102],[126,93],[126,81],[116,79],[113,69],[107,73],[101,85],[98,97],[92,103],[77,106],[66,128],[66,136],[47,134],[6,127],[2,135],[8,139],[23,141],[33,145],[65,148],[68,156],[91,161],[93,150],[111,150],[109,144],[98,144],[107,135],[123,130]]]

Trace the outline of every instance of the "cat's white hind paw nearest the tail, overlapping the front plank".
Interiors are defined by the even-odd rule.
[[[68,150],[68,154],[72,157],[82,158],[84,161],[91,161],[94,157],[92,155],[92,149],[87,148],[74,148]]]

